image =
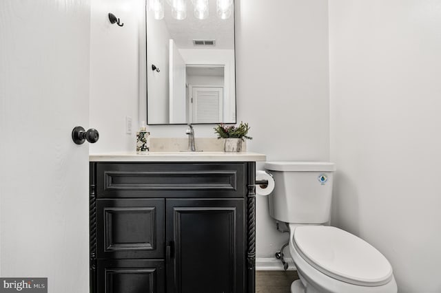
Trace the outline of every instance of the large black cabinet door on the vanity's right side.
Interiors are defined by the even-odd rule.
[[[167,199],[167,292],[244,292],[243,199]]]

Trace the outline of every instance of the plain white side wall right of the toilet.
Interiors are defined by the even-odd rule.
[[[333,222],[441,292],[441,2],[329,1]]]

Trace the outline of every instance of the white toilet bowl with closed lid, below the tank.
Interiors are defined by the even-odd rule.
[[[289,252],[300,277],[291,293],[397,292],[389,261],[366,241],[331,226],[289,229]]]

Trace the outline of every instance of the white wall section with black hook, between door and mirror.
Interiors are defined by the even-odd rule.
[[[97,129],[100,138],[90,144],[90,152],[134,151],[139,128],[139,17],[145,8],[136,0],[91,2],[90,125],[84,127]],[[109,12],[124,26],[112,25]],[[125,133],[125,116],[132,117],[132,135]]]

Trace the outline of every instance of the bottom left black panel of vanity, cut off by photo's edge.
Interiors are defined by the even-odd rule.
[[[98,261],[98,293],[165,293],[162,260]]]

